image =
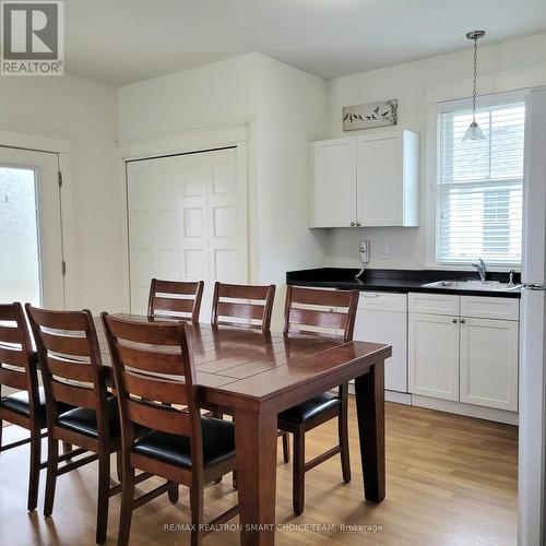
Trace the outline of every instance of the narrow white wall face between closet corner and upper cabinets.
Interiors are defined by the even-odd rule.
[[[325,234],[308,228],[308,146],[324,132],[325,82],[260,56],[258,83],[259,280],[277,285],[278,328],[286,271],[324,264]]]

